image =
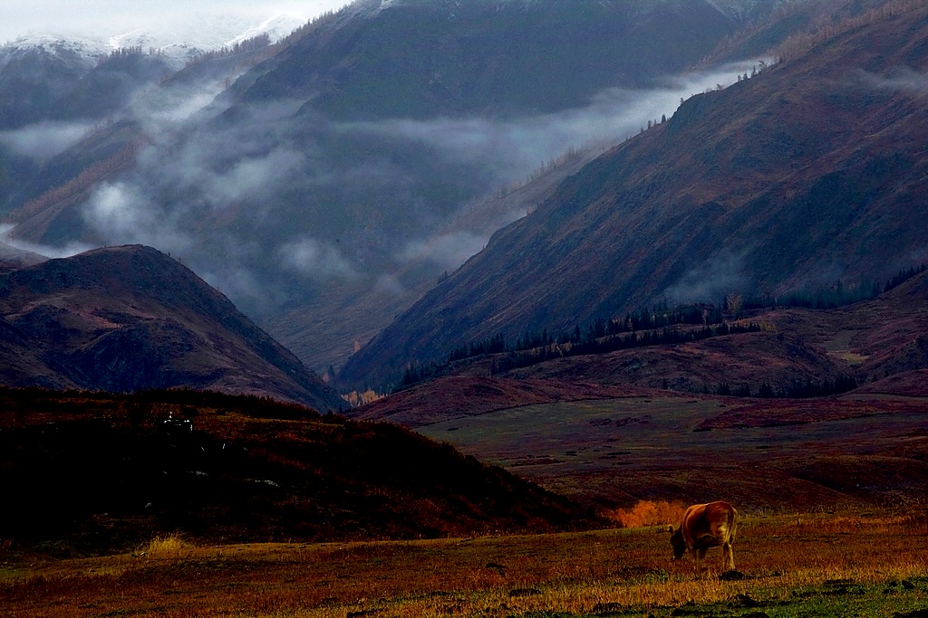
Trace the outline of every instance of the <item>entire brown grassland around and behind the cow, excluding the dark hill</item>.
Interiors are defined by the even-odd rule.
[[[165,534],[82,558],[0,530],[0,616],[928,616],[925,404],[664,395],[456,418],[419,431],[599,503],[617,527],[337,543]],[[198,431],[232,417],[201,412]],[[670,560],[666,523],[702,494],[741,512],[736,578],[719,577],[717,549],[704,574]]]

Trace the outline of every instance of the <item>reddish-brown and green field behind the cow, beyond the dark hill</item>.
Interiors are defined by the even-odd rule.
[[[419,427],[558,493],[628,508],[725,498],[741,510],[924,508],[928,399],[623,397]]]

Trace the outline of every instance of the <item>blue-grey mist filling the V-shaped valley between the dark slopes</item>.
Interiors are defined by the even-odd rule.
[[[599,90],[550,113],[472,107],[373,120],[332,118],[301,95],[243,96],[262,75],[249,67],[181,71],[139,88],[105,120],[0,133],[0,148],[39,170],[59,159],[75,166],[97,135],[131,139],[132,150],[118,171],[69,197],[67,223],[33,218],[6,241],[55,257],[158,248],[319,369],[532,212],[565,175],[754,62],[651,75],[647,89]]]

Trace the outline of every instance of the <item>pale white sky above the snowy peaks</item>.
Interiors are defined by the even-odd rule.
[[[310,19],[350,0],[0,0],[0,44],[27,34],[104,35],[172,27],[186,31],[204,18],[260,22],[280,13]]]

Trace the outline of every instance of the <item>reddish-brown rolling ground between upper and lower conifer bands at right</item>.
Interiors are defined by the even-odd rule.
[[[700,392],[718,385],[761,385],[786,392],[793,385],[853,376],[869,392],[923,397],[924,388],[901,387],[902,375],[928,369],[928,275],[922,273],[878,298],[839,309],[765,309],[752,312],[761,333],[703,342],[644,347],[541,363],[500,377],[571,380]],[[884,377],[899,387],[881,391]]]

